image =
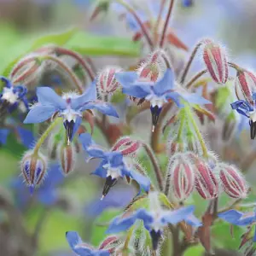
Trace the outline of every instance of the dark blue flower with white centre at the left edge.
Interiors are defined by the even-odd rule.
[[[13,85],[9,79],[0,77],[4,83],[3,91],[0,94],[0,113],[6,110],[11,111],[16,108],[20,102],[23,102],[26,109],[28,109],[28,102],[26,99],[26,87],[22,85]]]

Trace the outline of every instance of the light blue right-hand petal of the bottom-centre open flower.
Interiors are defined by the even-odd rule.
[[[189,206],[189,207],[181,207],[174,211],[167,211],[162,216],[162,221],[164,224],[167,224],[167,223],[177,224],[185,220],[189,216],[191,216],[194,210],[195,210],[194,206]]]

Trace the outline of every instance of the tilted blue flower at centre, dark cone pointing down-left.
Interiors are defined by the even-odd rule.
[[[102,198],[108,194],[109,189],[117,183],[119,177],[130,177],[137,181],[140,185],[140,192],[142,189],[148,192],[150,187],[150,180],[138,172],[134,172],[128,167],[123,154],[119,151],[104,151],[90,137],[90,134],[83,133],[79,137],[84,150],[92,158],[100,158],[102,162],[96,168],[95,174],[99,177],[106,178],[106,183],[103,188]]]

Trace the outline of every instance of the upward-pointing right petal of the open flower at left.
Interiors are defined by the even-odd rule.
[[[90,84],[90,87],[84,91],[81,96],[73,98],[71,100],[71,107],[75,110],[81,110],[84,108],[84,104],[88,102],[95,102],[97,97],[96,81]],[[86,109],[86,108],[85,108]]]

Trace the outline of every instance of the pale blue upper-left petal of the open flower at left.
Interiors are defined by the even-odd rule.
[[[55,90],[52,90],[49,87],[38,87],[37,89],[38,102],[42,105],[52,105],[55,106],[56,109],[65,109],[66,102],[61,96],[58,96],[55,93]]]

